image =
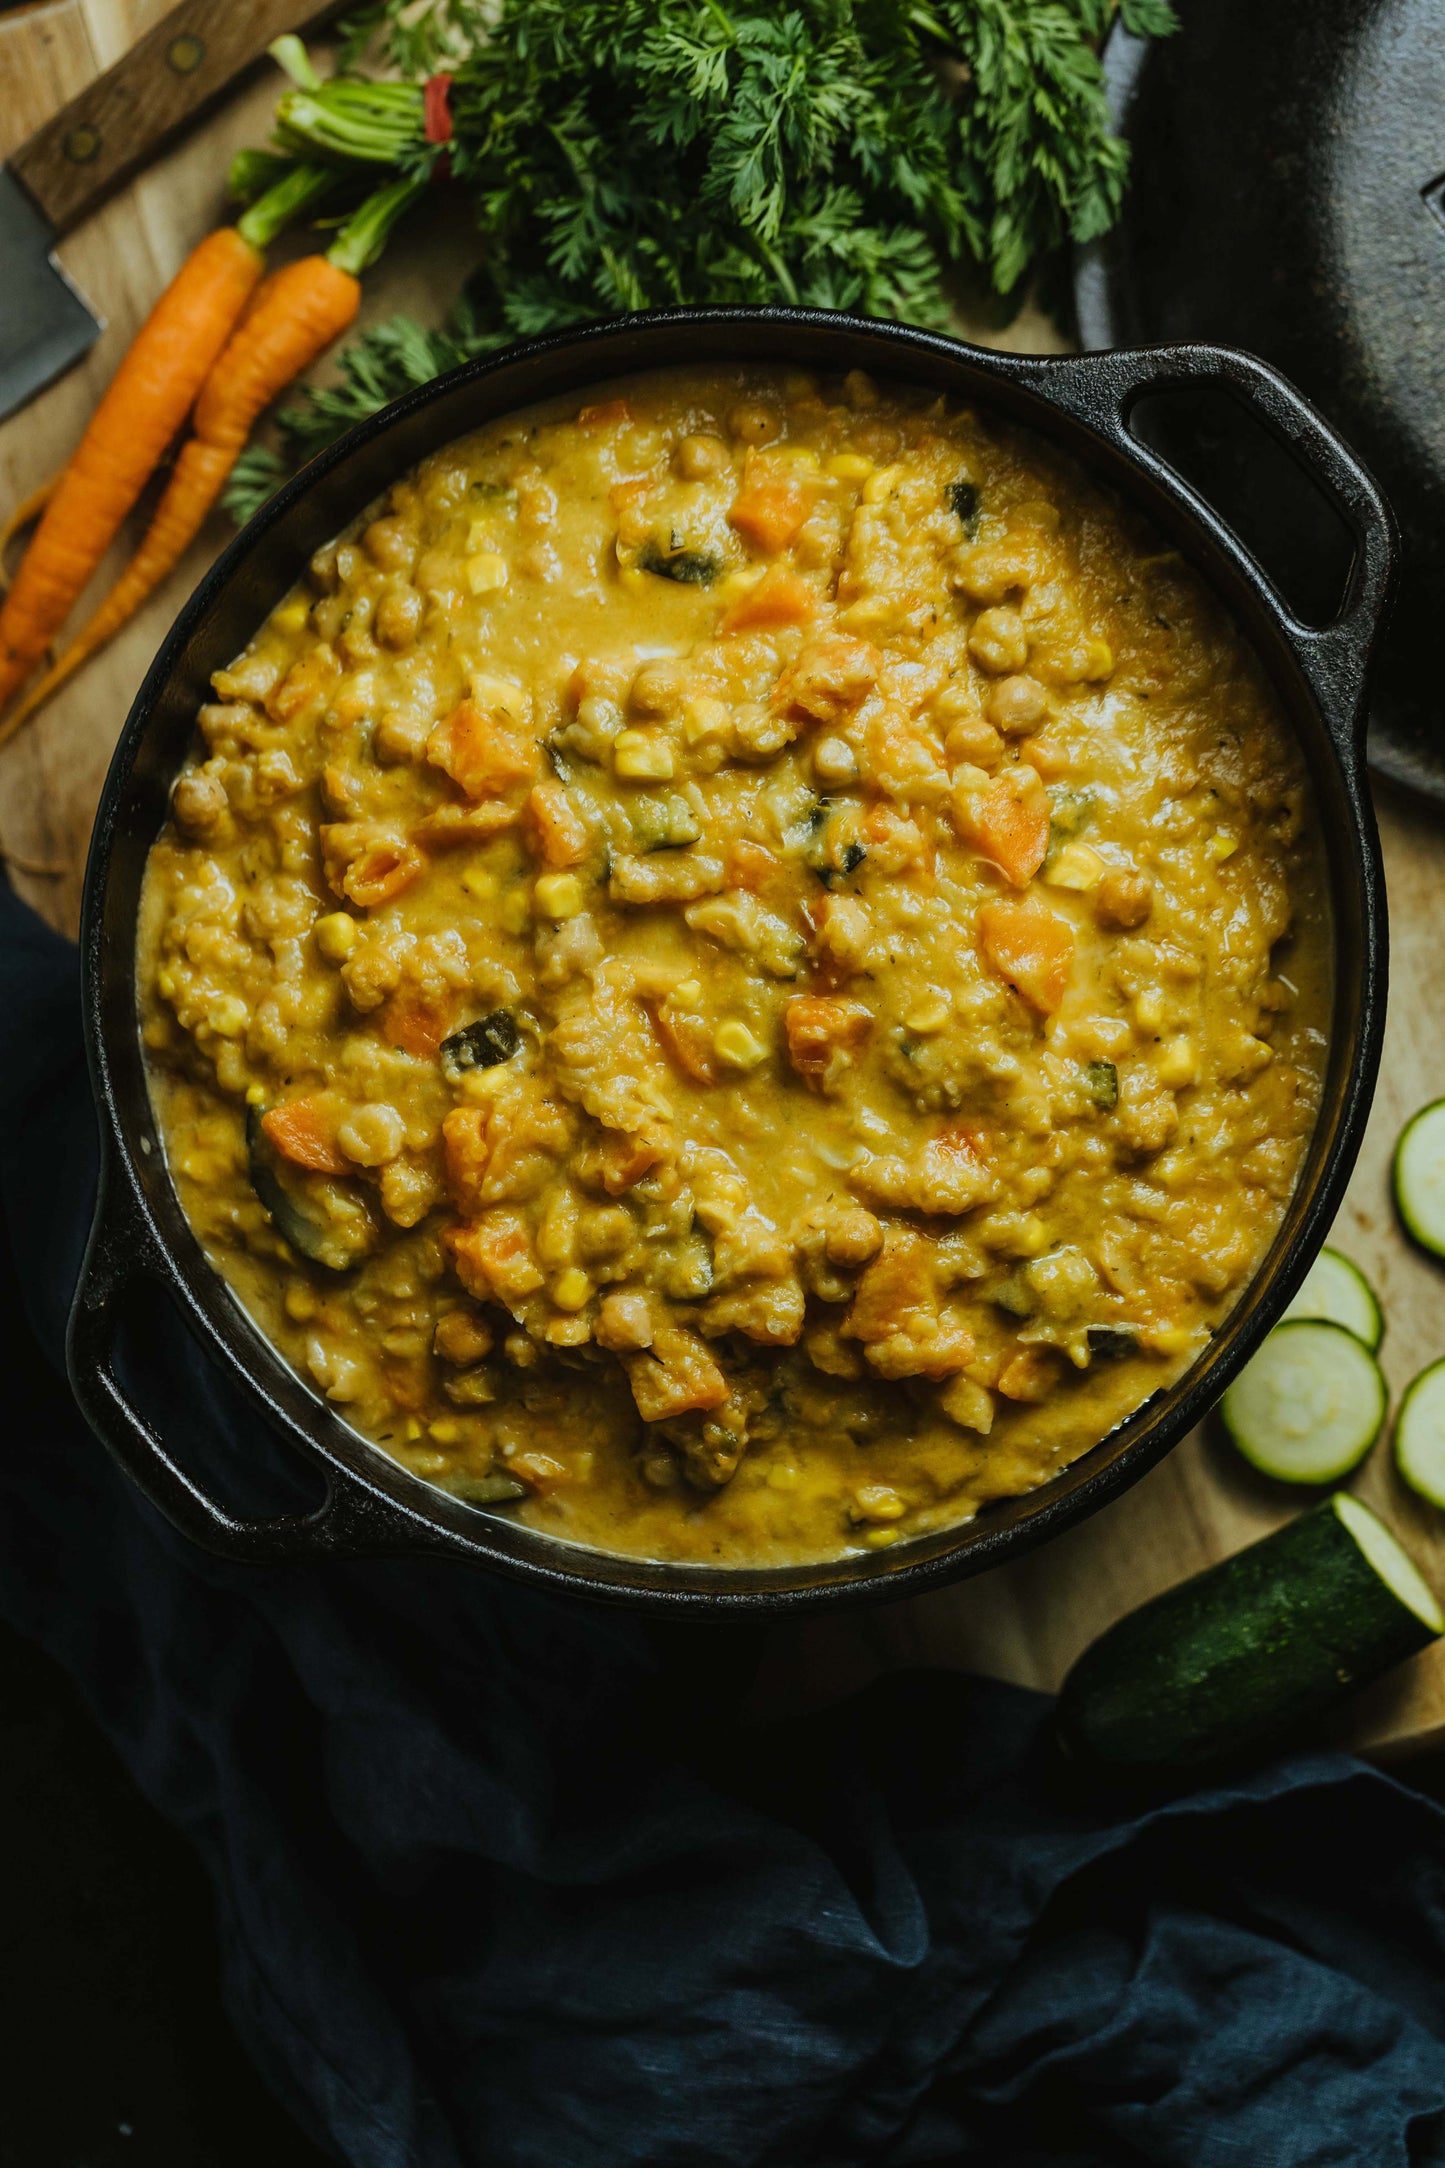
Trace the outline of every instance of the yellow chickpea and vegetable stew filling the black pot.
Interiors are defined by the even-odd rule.
[[[399,481],[214,676],[149,854],[182,1205],[416,1474],[830,1559],[1205,1348],[1315,1121],[1304,763],[1046,442],[659,371]]]

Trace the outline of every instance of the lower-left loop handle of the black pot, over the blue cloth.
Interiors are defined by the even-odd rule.
[[[381,1552],[438,1548],[431,1531],[357,1476],[327,1468],[327,1494],[310,1513],[245,1520],[227,1513],[167,1453],[128,1398],[115,1370],[115,1342],[128,1294],[156,1290],[167,1268],[149,1216],[128,1175],[102,1166],[95,1218],[65,1333],[65,1368],[80,1414],[136,1489],[201,1550],[238,1565],[312,1565]]]

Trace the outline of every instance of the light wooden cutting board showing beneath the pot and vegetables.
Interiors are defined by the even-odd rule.
[[[0,20],[0,156],[165,13],[162,0],[54,0]],[[305,13],[303,0],[297,15]],[[89,360],[0,427],[0,516],[74,447],[136,323],[182,256],[225,217],[225,165],[264,141],[277,78],[256,80],[160,165],[143,173],[63,247],[65,267],[108,321]],[[474,249],[461,215],[412,230],[405,251],[368,275],[366,317],[396,308],[440,314]],[[405,258],[405,267],[403,267]],[[1059,340],[1040,317],[962,323],[984,345],[1033,351]],[[141,674],[199,572],[230,535],[217,518],[162,594],[11,746],[0,750],[0,846],[11,878],[54,926],[74,932],[95,800]],[[102,566],[108,583],[123,538]],[[1445,926],[1445,837],[1413,802],[1378,791],[1393,924],[1393,986],[1384,1069],[1350,1195],[1335,1229],[1374,1281],[1389,1331],[1384,1368],[1395,1394],[1445,1355],[1445,1268],[1400,1236],[1389,1203],[1389,1156],[1404,1119],[1445,1093],[1445,1006],[1439,943]],[[1406,1539],[1445,1591],[1445,1518],[1410,1498],[1387,1450],[1358,1492]],[[1293,1511],[1226,1448],[1189,1437],[1133,1492],[1072,1535],[962,1587],[899,1604],[802,1622],[769,1643],[767,1706],[819,1700],[910,1663],[981,1669],[1057,1687],[1077,1652],[1111,1619],[1185,1574],[1226,1557]],[[1404,1752],[1445,1737],[1445,1646],[1361,1695],[1345,1737]]]

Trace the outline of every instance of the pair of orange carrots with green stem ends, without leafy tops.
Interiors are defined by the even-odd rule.
[[[392,182],[347,219],[325,256],[262,280],[264,247],[338,180],[295,165],[236,225],[208,234],[141,325],[56,481],[17,507],[39,525],[0,605],[0,711],[26,683],[126,514],[191,416],[141,546],[93,618],[0,720],[0,744],[110,640],[195,540],[262,408],[355,319],[360,273],[420,182]]]

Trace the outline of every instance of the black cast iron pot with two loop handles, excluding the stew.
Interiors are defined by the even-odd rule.
[[[823,1565],[663,1565],[563,1544],[468,1507],[366,1444],[301,1383],[240,1312],[191,1234],[165,1169],[141,1056],[136,902],[210,672],[227,663],[312,551],[429,451],[494,416],[607,377],[674,362],[867,369],[992,408],[1072,453],[1144,509],[1228,603],[1300,735],[1330,861],[1335,1008],[1319,1123],[1280,1234],[1207,1353],[1168,1392],[1027,1498],[888,1552]],[[1309,627],[1209,505],[1131,431],[1144,397],[1228,386],[1276,447],[1309,468],[1354,535],[1339,616]],[[1324,1240],[1354,1162],[1384,1025],[1387,926],[1374,813],[1363,787],[1363,694],[1393,564],[1389,512],[1330,427],[1274,371],[1215,347],[1036,358],[808,310],[678,310],[544,338],[457,369],[323,453],[225,551],[182,609],[115,750],[84,887],[87,1043],[102,1184],[69,1325],[69,1377],[89,1422],[134,1483],[208,1550],[264,1565],[414,1552],[474,1559],[574,1593],[654,1609],[782,1611],[897,1598],[977,1574],[1057,1535],[1142,1476],[1220,1396],[1278,1320]],[[1276,568],[1280,570],[1280,568]],[[171,1457],[117,1375],[117,1333],[139,1296],[169,1296],[201,1346],[325,1476],[312,1513],[240,1520]]]

